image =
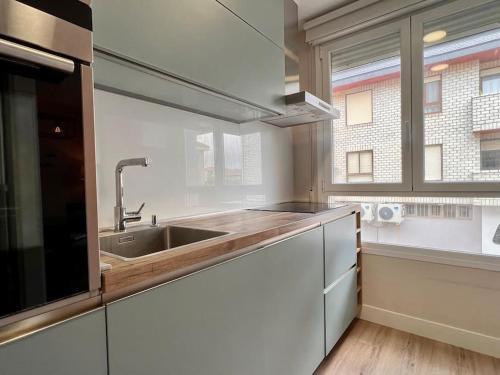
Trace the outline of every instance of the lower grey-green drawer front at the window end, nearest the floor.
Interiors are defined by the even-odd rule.
[[[356,267],[344,274],[325,294],[325,347],[332,350],[357,315]]]

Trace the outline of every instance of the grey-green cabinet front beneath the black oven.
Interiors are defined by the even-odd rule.
[[[105,375],[104,308],[0,346],[0,374]]]

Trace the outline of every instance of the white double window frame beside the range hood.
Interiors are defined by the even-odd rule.
[[[500,196],[499,182],[443,182],[425,180],[425,143],[423,111],[423,26],[453,13],[492,3],[495,0],[456,0],[430,10],[391,23],[363,29],[348,36],[320,44],[316,53],[317,87],[324,100],[330,102],[331,54],[347,46],[364,43],[395,32],[401,35],[401,183],[334,183],[332,176],[332,132],[331,122],[324,122],[318,140],[323,140],[317,150],[319,178],[318,193],[328,195],[481,195]],[[411,26],[410,26],[411,24]]]

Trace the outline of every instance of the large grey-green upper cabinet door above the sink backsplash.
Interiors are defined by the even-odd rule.
[[[283,112],[283,50],[215,0],[93,0],[92,8],[96,48]]]

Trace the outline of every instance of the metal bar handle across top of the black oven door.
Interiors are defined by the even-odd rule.
[[[27,61],[36,65],[59,70],[71,74],[75,71],[75,63],[52,53],[26,47],[5,39],[0,39],[0,55]]]

